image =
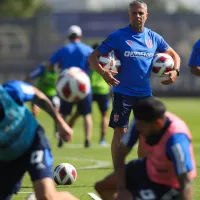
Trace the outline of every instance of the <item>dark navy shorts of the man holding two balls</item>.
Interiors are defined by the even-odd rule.
[[[112,128],[128,128],[129,117],[134,106],[140,99],[152,98],[152,96],[135,97],[113,93],[113,109],[110,115],[109,126]]]

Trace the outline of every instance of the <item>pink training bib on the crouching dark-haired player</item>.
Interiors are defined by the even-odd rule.
[[[143,136],[140,136],[140,142],[142,147],[147,152],[147,173],[153,182],[164,184],[173,188],[179,188],[179,182],[178,178],[175,173],[174,165],[171,160],[166,155],[166,144],[170,136],[176,133],[184,133],[187,135],[187,137],[191,140],[192,136],[190,134],[190,131],[185,124],[184,121],[182,121],[177,116],[166,113],[166,116],[172,121],[169,128],[166,130],[165,134],[154,146],[150,146],[145,142],[145,138]],[[192,145],[190,144],[190,154],[192,157],[193,162],[193,170],[190,171],[190,176],[192,179],[196,177],[196,165],[194,161],[194,153]]]

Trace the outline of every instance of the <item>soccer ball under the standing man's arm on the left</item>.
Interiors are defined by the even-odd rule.
[[[104,54],[99,57],[99,63],[105,70],[112,70],[114,72],[120,72],[121,62],[111,51],[108,54]]]

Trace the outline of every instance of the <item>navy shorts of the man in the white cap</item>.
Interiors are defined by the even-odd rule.
[[[77,111],[85,116],[92,112],[92,94],[88,94],[83,100],[78,103],[68,103],[61,100],[60,113],[63,116],[68,116],[72,112],[73,105],[77,105]]]

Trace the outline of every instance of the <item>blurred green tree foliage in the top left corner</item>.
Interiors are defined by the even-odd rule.
[[[1,0],[0,16],[29,18],[44,7],[42,0]]]

